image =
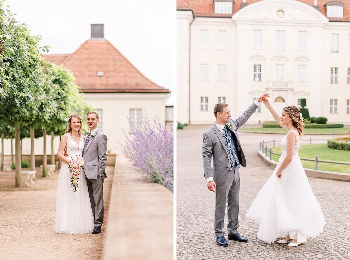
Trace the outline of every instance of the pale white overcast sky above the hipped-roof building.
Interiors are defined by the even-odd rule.
[[[175,0],[7,0],[17,20],[49,53],[72,53],[90,38],[90,24],[104,23],[104,36],[147,78],[174,89]]]

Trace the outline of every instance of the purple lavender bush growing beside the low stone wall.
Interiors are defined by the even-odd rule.
[[[174,135],[173,125],[166,128],[159,117],[150,120],[142,116],[126,132],[126,144],[121,144],[125,157],[133,161],[134,168],[147,175],[152,181],[164,185],[173,192],[174,182]]]

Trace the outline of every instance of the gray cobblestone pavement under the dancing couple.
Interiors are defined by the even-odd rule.
[[[283,135],[239,133],[247,167],[240,168],[238,231],[248,242],[228,240],[228,247],[217,245],[215,194],[207,189],[201,154],[202,133],[209,127],[190,125],[177,131],[177,259],[350,259],[349,182],[309,178],[326,219],[324,232],[318,237],[293,248],[266,244],[256,238],[258,224],[245,214],[273,171],[258,156],[259,141],[280,140]],[[315,139],[331,137],[313,136]]]

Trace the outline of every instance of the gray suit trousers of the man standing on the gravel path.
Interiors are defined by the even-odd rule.
[[[97,179],[90,180],[86,178],[87,190],[94,218],[94,226],[101,227],[103,224],[103,181],[105,176],[97,176]]]

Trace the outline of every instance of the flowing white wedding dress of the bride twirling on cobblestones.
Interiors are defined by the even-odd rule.
[[[289,234],[298,244],[307,237],[323,232],[325,219],[298,156],[300,137],[297,130],[293,159],[282,171],[276,172],[287,155],[287,135],[281,140],[282,155],[272,175],[261,188],[246,217],[260,223],[257,237],[267,243]]]

